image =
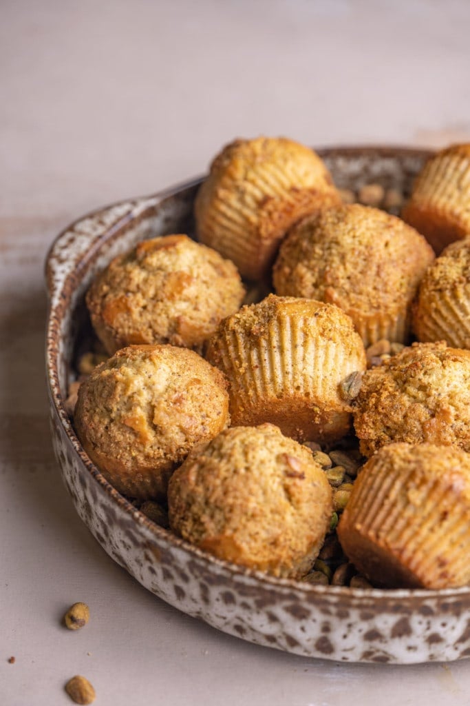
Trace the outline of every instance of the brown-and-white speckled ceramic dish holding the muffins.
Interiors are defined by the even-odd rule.
[[[341,188],[378,182],[409,192],[427,152],[323,150]],[[106,552],[159,598],[231,635],[341,662],[450,661],[470,656],[470,587],[364,590],[306,585],[218,561],[154,525],[114,490],[82,450],[64,408],[84,294],[97,271],[136,241],[192,231],[200,181],[123,201],[75,222],[47,259],[51,429],[63,479]]]

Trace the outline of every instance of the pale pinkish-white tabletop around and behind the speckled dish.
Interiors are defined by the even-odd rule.
[[[235,136],[470,140],[464,0],[0,1],[0,705],[470,703],[470,664],[345,665],[230,638],[144,590],[51,451],[42,263],[70,220],[200,174]],[[61,627],[83,600],[89,624]],[[15,664],[8,657],[16,657]]]

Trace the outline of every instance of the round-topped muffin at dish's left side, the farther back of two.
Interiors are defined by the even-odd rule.
[[[144,240],[114,258],[87,292],[107,352],[170,343],[200,350],[245,290],[235,265],[186,235]]]

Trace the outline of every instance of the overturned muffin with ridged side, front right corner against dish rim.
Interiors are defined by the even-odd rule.
[[[364,465],[338,525],[342,549],[375,585],[470,582],[470,456],[393,443]]]

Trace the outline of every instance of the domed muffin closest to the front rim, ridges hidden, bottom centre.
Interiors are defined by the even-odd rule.
[[[272,424],[222,431],[176,469],[173,532],[218,558],[275,576],[311,567],[333,509],[311,451]]]

